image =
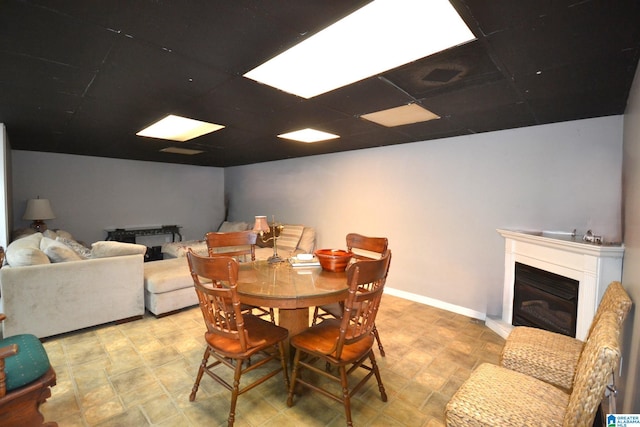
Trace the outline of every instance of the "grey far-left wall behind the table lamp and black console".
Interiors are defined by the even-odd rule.
[[[185,240],[201,239],[224,219],[224,170],[134,160],[13,151],[14,228],[26,201],[51,201],[62,228],[86,243],[103,240],[105,228],[181,225]],[[161,244],[170,236],[142,238]],[[160,239],[158,241],[158,239]]]

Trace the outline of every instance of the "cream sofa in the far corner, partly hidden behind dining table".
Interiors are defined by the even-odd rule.
[[[248,227],[246,222],[225,222],[218,231],[242,231]],[[287,258],[292,254],[312,253],[315,240],[316,232],[312,227],[285,225],[278,239],[278,254]],[[162,247],[163,257],[166,259],[145,263],[145,306],[156,316],[198,304],[186,259],[190,248],[200,255],[207,254],[207,245],[202,240],[168,243]],[[273,248],[256,248],[257,260],[264,260],[272,255]]]

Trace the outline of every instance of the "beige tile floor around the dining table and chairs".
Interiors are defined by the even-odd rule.
[[[442,426],[444,406],[482,362],[497,363],[504,340],[483,322],[385,295],[377,326],[387,356],[376,358],[388,401],[375,379],[352,400],[354,425]],[[197,307],[156,319],[106,325],[50,338],[57,375],[42,406],[66,426],[223,426],[229,392],[204,377],[189,393],[204,350]],[[236,426],[342,426],[343,407],[318,393],[286,405],[282,376],[238,399]]]

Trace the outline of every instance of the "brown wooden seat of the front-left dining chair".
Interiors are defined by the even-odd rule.
[[[247,358],[257,351],[275,345],[279,341],[287,338],[288,331],[285,328],[274,325],[254,315],[247,314],[242,317],[244,319],[245,330],[249,335],[249,343],[246,351],[242,351],[239,340],[209,332],[205,333],[207,344],[224,357],[236,359]]]

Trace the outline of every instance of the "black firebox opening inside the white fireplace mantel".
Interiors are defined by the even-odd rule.
[[[575,337],[578,285],[577,280],[516,262],[511,323]]]

